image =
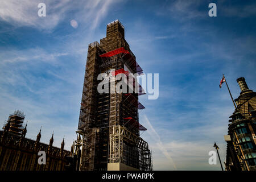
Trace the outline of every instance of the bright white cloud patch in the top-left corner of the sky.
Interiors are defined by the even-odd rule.
[[[32,26],[51,29],[59,23],[67,10],[69,0],[46,3],[46,17],[38,16],[38,4],[42,1],[15,1],[4,0],[0,2],[0,17],[15,26]]]

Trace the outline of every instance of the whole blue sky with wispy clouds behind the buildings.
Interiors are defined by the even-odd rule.
[[[46,3],[46,17],[38,4]],[[217,5],[217,17],[208,5]],[[236,82],[256,90],[254,1],[15,1],[0,2],[0,125],[26,113],[27,137],[42,142],[54,131],[70,150],[79,119],[88,44],[119,19],[144,73],[159,73],[159,98],[140,101],[139,121],[152,148],[155,170],[220,170],[208,164],[216,141],[224,162],[228,117]],[[78,27],[71,26],[71,20]]]

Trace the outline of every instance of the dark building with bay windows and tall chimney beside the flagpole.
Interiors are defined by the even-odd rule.
[[[250,90],[245,78],[237,79],[241,88],[235,100],[236,110],[230,116],[225,168],[227,171],[256,170],[256,93]]]

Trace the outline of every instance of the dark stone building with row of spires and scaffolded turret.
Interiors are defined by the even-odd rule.
[[[63,171],[70,155],[61,147],[52,146],[53,134],[49,144],[41,143],[41,130],[36,140],[26,138],[27,125],[23,127],[25,115],[20,111],[10,114],[8,121],[0,130],[0,171]],[[46,164],[39,164],[39,151],[46,152]]]

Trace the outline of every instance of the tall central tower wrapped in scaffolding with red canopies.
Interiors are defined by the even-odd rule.
[[[73,155],[79,170],[152,170],[151,151],[140,137],[146,129],[139,123],[138,110],[144,106],[138,96],[144,94],[135,78],[127,86],[139,92],[99,93],[100,73],[130,78],[129,73],[142,73],[136,57],[125,40],[125,29],[119,20],[107,25],[106,38],[89,44],[84,88]],[[110,82],[111,82],[111,78]],[[139,85],[139,86],[137,86]]]

